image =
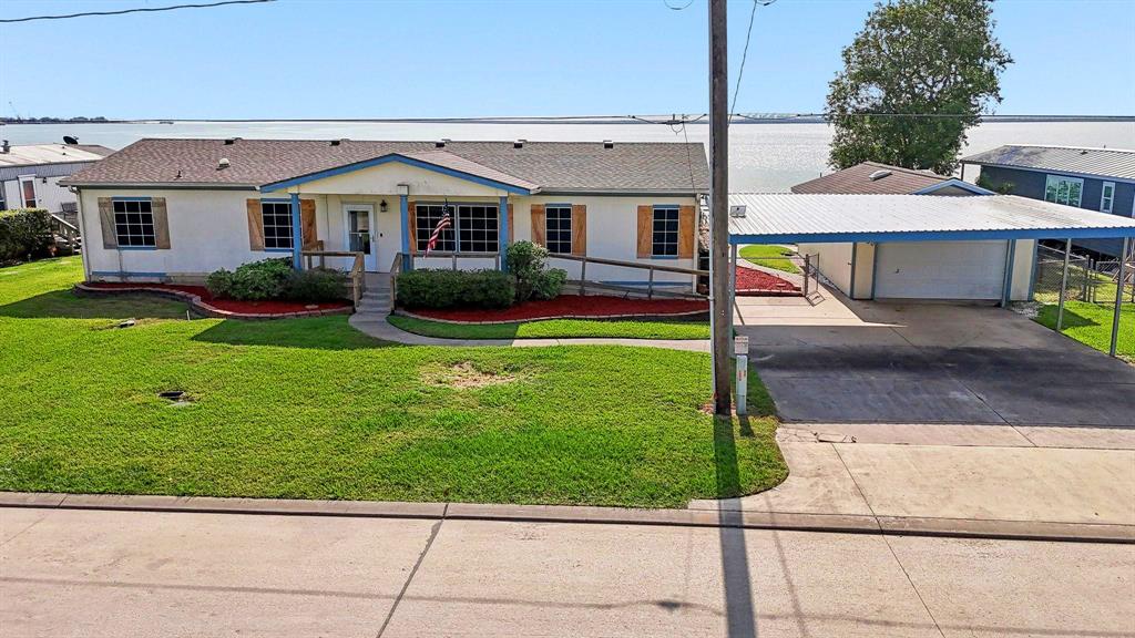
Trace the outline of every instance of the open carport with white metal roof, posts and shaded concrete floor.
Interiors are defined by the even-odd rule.
[[[1018,271],[1015,278],[1022,245],[1135,237],[1135,220],[1012,195],[746,193],[731,195],[730,203],[734,254],[735,246],[755,243],[917,249],[999,242],[1002,303],[1031,293],[1031,276]],[[856,277],[869,280],[861,271]],[[854,321],[735,326],[749,336],[751,361],[788,421],[1135,426],[1135,368],[1023,316],[987,305],[874,303],[826,292]]]

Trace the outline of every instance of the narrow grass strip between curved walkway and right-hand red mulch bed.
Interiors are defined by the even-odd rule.
[[[620,321],[546,319],[520,324],[461,325],[392,314],[387,321],[407,333],[446,339],[558,339],[620,337],[631,339],[707,339],[704,321]]]

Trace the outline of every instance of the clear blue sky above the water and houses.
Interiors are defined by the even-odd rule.
[[[0,17],[178,0],[5,0]],[[200,0],[190,0],[200,1]],[[687,0],[669,0],[682,5]],[[757,9],[739,111],[823,109],[871,0]],[[730,75],[749,0],[730,2]],[[1001,0],[998,112],[1135,115],[1135,0]],[[706,2],[280,0],[0,25],[0,112],[350,118],[703,112]]]

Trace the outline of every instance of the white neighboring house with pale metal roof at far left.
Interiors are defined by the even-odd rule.
[[[42,208],[75,224],[75,194],[59,181],[114,151],[93,144],[0,146],[0,210]]]

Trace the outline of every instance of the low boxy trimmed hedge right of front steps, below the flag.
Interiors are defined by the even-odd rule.
[[[405,308],[508,308],[516,279],[499,270],[411,270],[397,277]]]

